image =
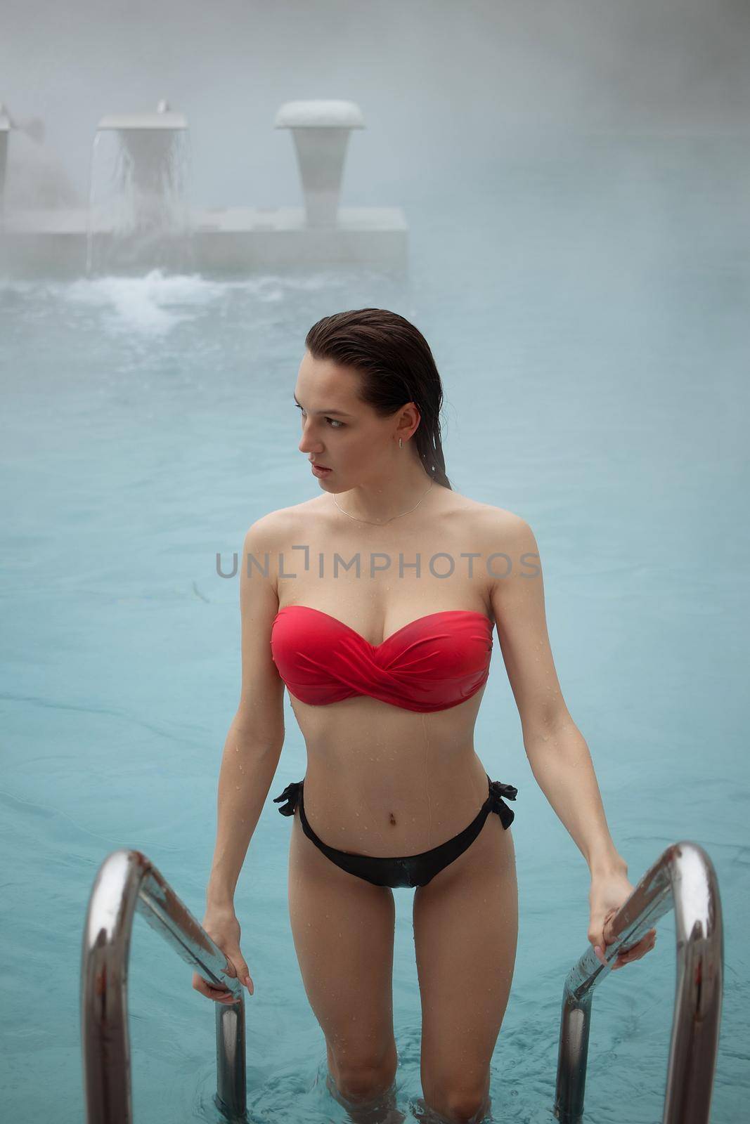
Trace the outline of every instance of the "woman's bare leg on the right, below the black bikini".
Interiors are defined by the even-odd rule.
[[[471,846],[414,895],[422,1088],[439,1120],[480,1121],[489,1112],[517,939],[513,837],[493,813]]]

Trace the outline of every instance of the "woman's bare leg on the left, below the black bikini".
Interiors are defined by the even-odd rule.
[[[367,1118],[374,1122],[381,1117],[372,1114],[370,1103],[389,1093],[394,1100],[397,1067],[394,894],[322,854],[302,832],[299,808],[289,849],[289,917],[305,991],[325,1035],[331,1077],[347,1103],[368,1105]]]

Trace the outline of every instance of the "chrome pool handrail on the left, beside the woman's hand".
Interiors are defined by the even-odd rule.
[[[216,1007],[215,1104],[231,1121],[246,1120],[245,1001],[226,975],[227,957],[141,851],[120,849],[94,879],[83,928],[81,1045],[88,1124],[132,1124],[127,973],[136,910],[209,984],[232,991]]]

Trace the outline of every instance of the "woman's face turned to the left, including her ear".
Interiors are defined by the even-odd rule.
[[[406,438],[416,428],[413,404],[390,418],[378,417],[356,397],[359,380],[351,368],[313,359],[307,351],[297,375],[295,408],[302,430],[298,448],[315,464],[331,469],[317,479],[334,492],[391,472],[398,437]]]

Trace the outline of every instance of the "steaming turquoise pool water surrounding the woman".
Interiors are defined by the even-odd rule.
[[[412,268],[227,280],[0,285],[3,382],[2,1061],[8,1120],[83,1118],[79,962],[117,847],[200,918],[216,783],[240,687],[240,550],[264,511],[318,491],[291,390],[319,316],[413,319],[445,388],[454,487],[535,531],[548,624],[631,881],[670,843],[713,860],[725,998],[712,1121],[748,1077],[750,845],[747,371],[750,160],[739,145],[558,146],[399,198]],[[341,1121],[287,914],[287,743],[237,890],[255,981],[253,1121]],[[552,1120],[564,976],[588,871],[537,788],[499,649],[477,750],[514,783],[519,941],[493,1062],[493,1120]],[[421,1096],[412,891],[396,890],[398,1102]],[[130,954],[135,1120],[214,1121],[213,1006],[142,919]],[[674,924],[597,991],[585,1120],[661,1118]],[[626,1106],[626,1108],[624,1107]]]

